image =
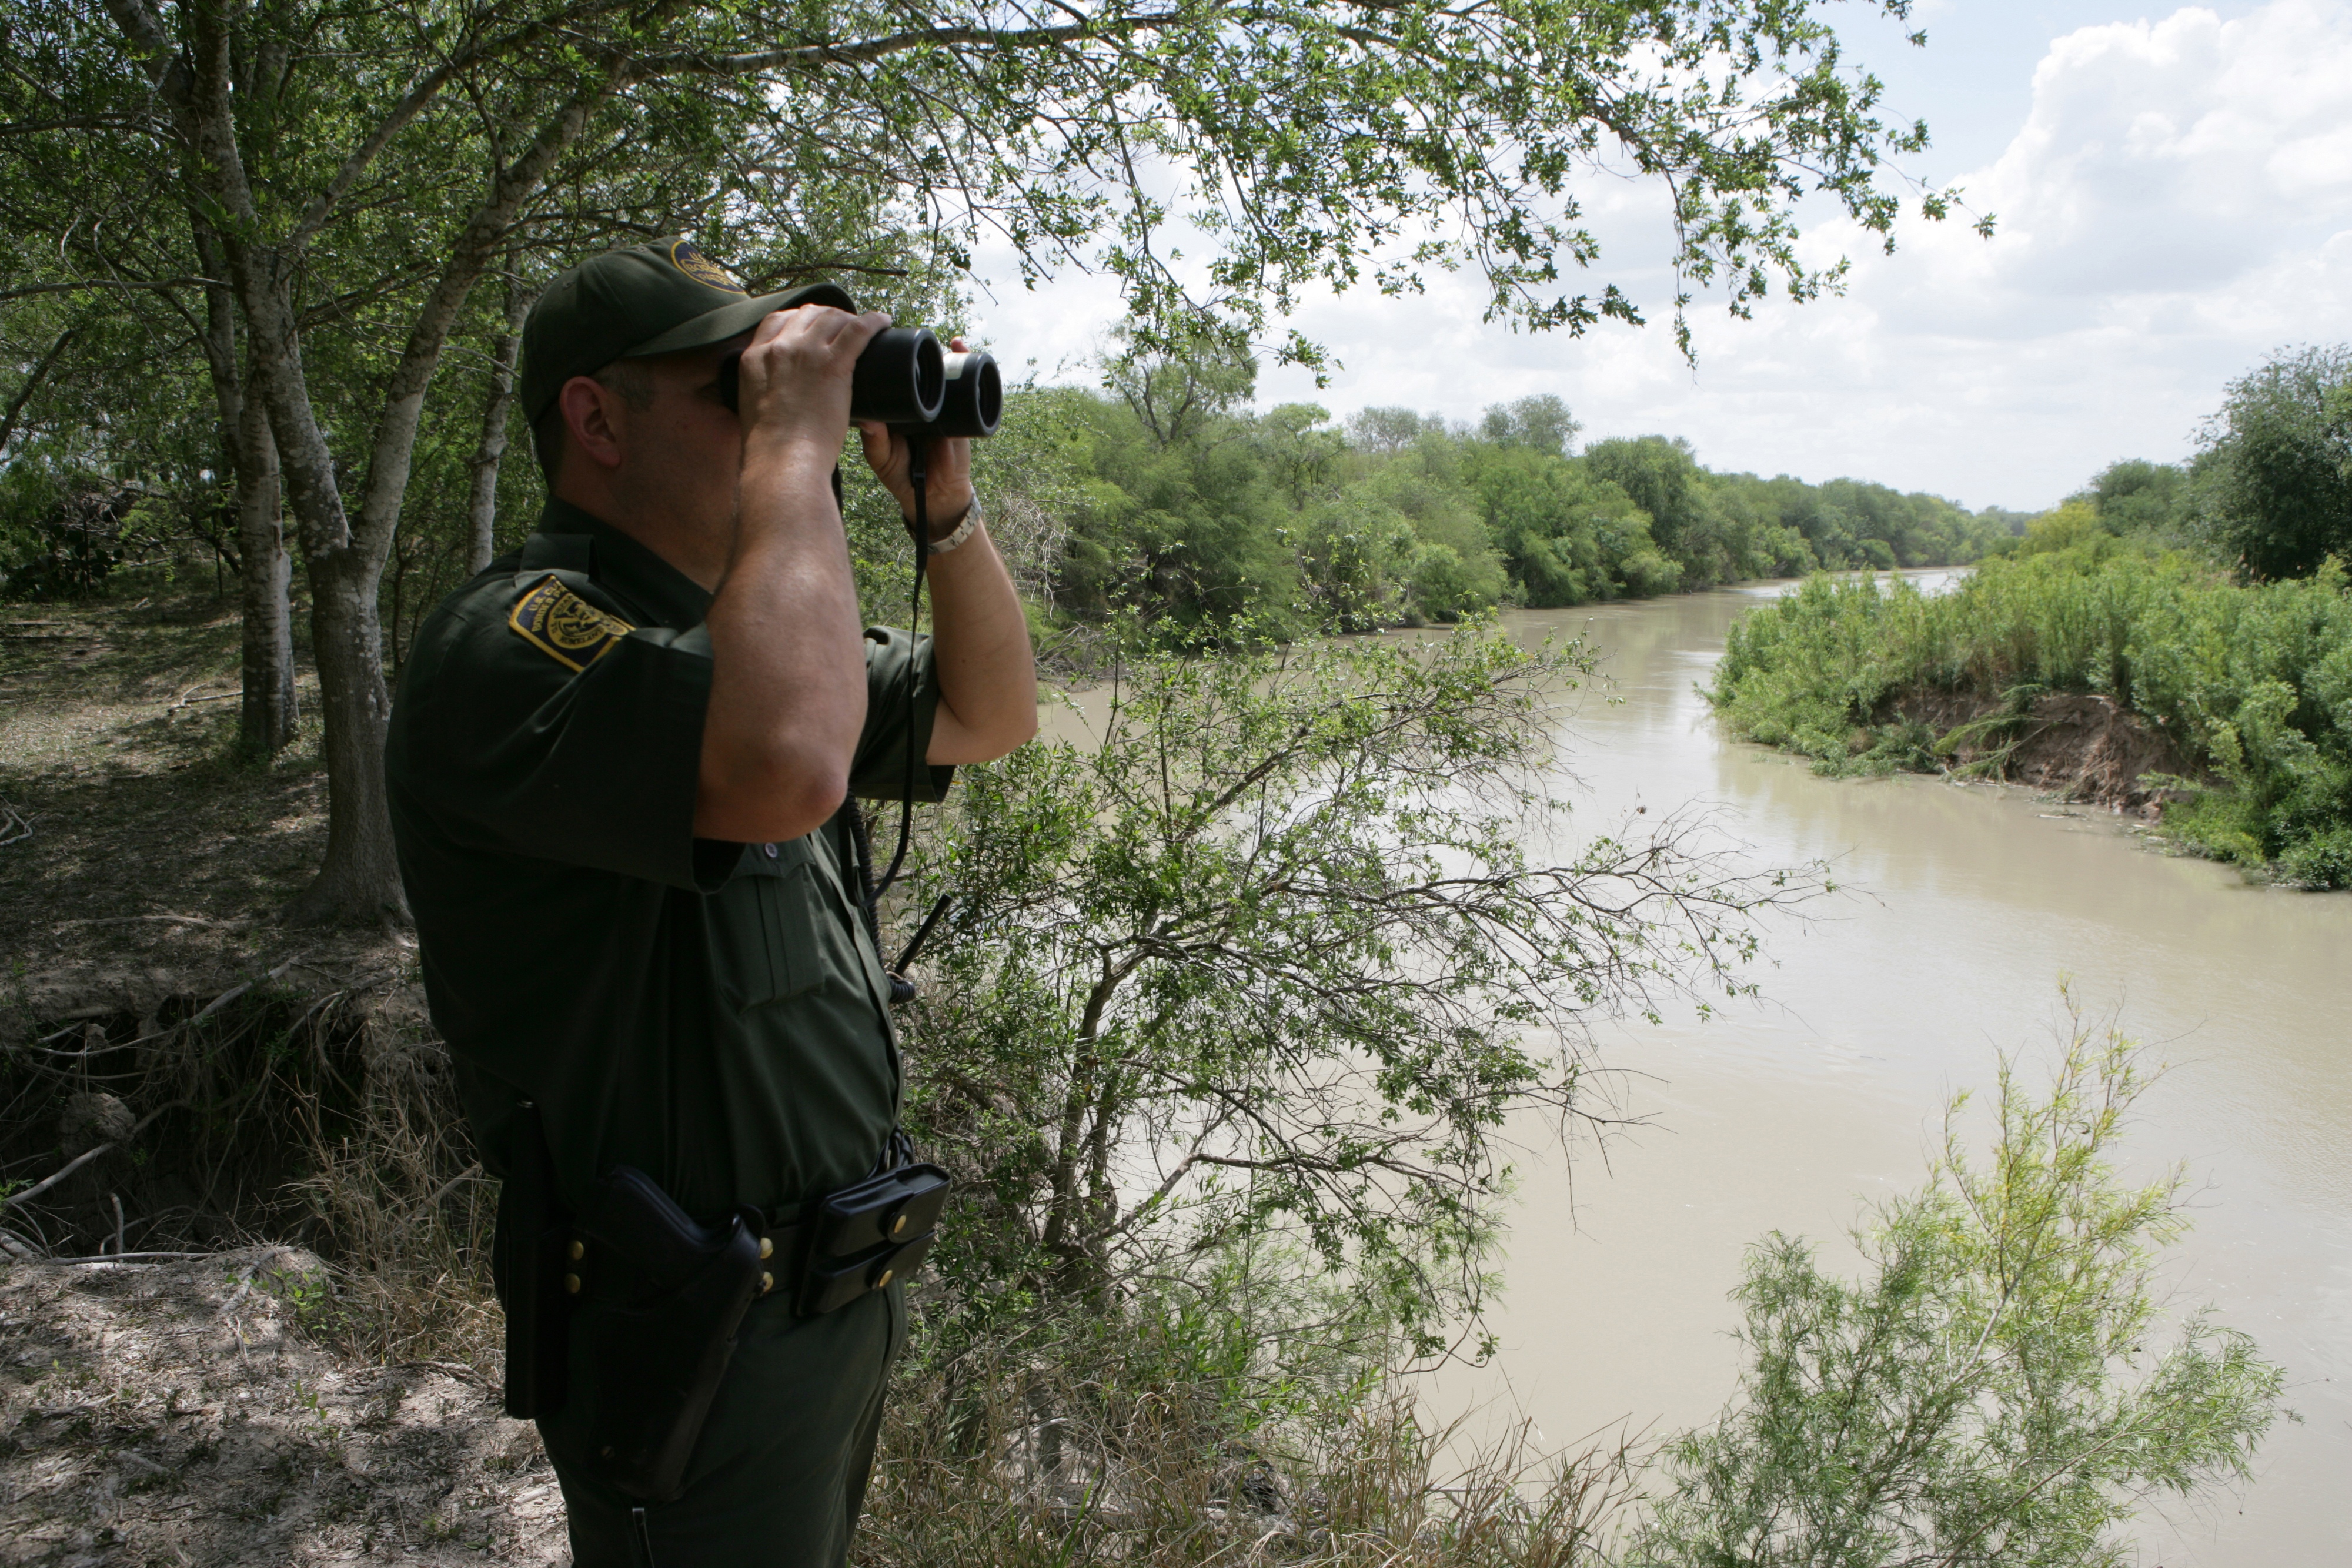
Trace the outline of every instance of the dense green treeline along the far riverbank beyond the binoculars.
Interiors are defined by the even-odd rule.
[[[1818,567],[1969,562],[2006,515],[1884,484],[1717,475],[1689,442],[1576,451],[1559,397],[1470,425],[1411,409],[1345,423],[1315,404],[1249,409],[1249,362],[1124,357],[1101,393],[1018,395],[983,465],[1047,482],[1068,536],[1049,597],[1075,621],[1134,618],[1174,642],[1456,621]],[[1000,437],[1004,442],[1004,437]],[[1018,484],[1016,484],[1018,487]]]

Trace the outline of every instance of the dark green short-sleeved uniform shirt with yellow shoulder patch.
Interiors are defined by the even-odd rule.
[[[536,1100],[567,1197],[630,1164],[706,1220],[858,1180],[898,1110],[847,825],[694,837],[708,607],[550,501],[520,555],[426,618],[386,745],[426,997],[482,1161],[503,1175]],[[936,703],[929,639],[868,630],[851,795],[906,795]],[[920,799],[950,778],[922,769]]]

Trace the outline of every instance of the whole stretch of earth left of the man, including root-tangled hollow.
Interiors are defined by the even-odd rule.
[[[254,764],[235,710],[230,599],[0,607],[0,1566],[564,1561],[475,1368],[489,1187],[397,1114],[447,1100],[412,943],[280,919],[318,729]],[[139,1258],[256,1232],[343,1267]]]

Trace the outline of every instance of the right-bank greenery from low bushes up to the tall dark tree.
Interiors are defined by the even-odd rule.
[[[1823,769],[1938,769],[1905,693],[2100,691],[2218,788],[2164,811],[2187,849],[2352,886],[2352,346],[2232,381],[2180,465],[2122,461],[1990,545],[1955,592],[1811,581],[1731,628],[1710,698]],[[1985,722],[1969,726],[1971,736]]]

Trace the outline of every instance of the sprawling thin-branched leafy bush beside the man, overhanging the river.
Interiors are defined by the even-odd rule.
[[[1138,658],[1098,745],[967,773],[908,1126],[983,1194],[941,1244],[969,1335],[1282,1237],[1449,1345],[1503,1119],[1581,1114],[1585,1018],[1738,990],[1752,910],[1809,882],[1684,823],[1529,851],[1564,837],[1536,703],[1588,670],[1494,628]]]

